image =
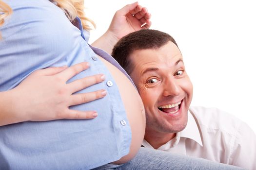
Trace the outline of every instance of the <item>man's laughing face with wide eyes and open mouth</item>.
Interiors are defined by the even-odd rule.
[[[173,42],[158,50],[137,50],[130,55],[130,74],[146,111],[146,131],[176,133],[187,125],[193,86],[182,55]]]

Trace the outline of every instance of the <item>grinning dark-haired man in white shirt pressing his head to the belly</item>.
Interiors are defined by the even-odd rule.
[[[248,125],[218,109],[190,107],[193,86],[173,37],[148,29],[131,33],[112,56],[143,101],[144,147],[256,170],[256,135]]]

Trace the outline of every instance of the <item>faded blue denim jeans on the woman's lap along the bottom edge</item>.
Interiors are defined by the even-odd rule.
[[[242,168],[149,148],[122,165],[106,164],[94,170],[243,170]]]

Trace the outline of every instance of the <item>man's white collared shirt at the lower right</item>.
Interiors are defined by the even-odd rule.
[[[145,139],[142,143],[153,148]],[[216,108],[191,107],[185,129],[158,150],[256,170],[256,135],[243,121]]]

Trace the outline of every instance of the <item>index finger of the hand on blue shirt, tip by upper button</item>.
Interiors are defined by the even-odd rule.
[[[58,73],[58,76],[61,79],[68,81],[70,78],[74,77],[75,75],[77,75],[78,73],[80,73],[81,71],[83,71],[89,67],[90,67],[89,63],[82,62],[82,63],[76,64],[74,66],[71,66],[69,68],[66,68],[64,71]]]

